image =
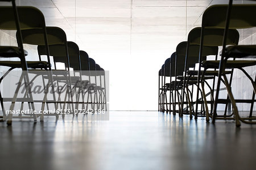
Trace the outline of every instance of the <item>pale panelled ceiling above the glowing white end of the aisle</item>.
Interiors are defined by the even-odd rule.
[[[170,52],[210,5],[228,0],[19,0],[89,52]],[[235,1],[241,3],[242,1]],[[150,36],[148,36],[150,35]],[[101,49],[99,51],[99,49]]]

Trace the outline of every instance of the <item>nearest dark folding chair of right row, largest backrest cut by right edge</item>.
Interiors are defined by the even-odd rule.
[[[255,102],[255,80],[246,73],[244,67],[251,67],[256,65],[255,60],[228,60],[230,58],[239,59],[239,58],[255,58],[255,45],[233,45],[231,47],[226,47],[226,37],[229,34],[229,28],[251,28],[256,26],[255,20],[256,14],[256,5],[232,5],[232,1],[230,0],[229,5],[213,5],[208,7],[203,14],[202,20],[202,33],[204,35],[204,28],[207,27],[218,27],[225,28],[224,39],[222,43],[222,53],[220,61],[213,61],[212,63],[208,63],[208,67],[212,66],[215,68],[219,68],[218,72],[218,81],[217,81],[217,89],[216,89],[216,97],[214,98],[214,109],[213,109],[213,123],[215,122],[217,116],[217,104],[221,101],[218,99],[218,94],[220,91],[220,82],[224,82],[230,102],[232,103],[232,109],[234,113],[234,118],[225,118],[225,119],[234,119],[236,121],[236,126],[239,127],[241,125],[240,121],[244,123],[255,123],[251,120],[254,119],[252,115],[253,104]],[[203,36],[201,36],[203,38]],[[201,39],[201,44],[204,43],[204,40]],[[228,79],[225,74],[226,68],[235,68],[240,69],[247,78],[251,81],[254,89],[252,99],[234,99],[232,90],[230,88]],[[222,79],[223,77],[223,79]],[[236,106],[236,102],[246,102],[251,103],[251,110],[249,118],[241,118],[238,114],[238,109]],[[246,121],[248,120],[249,121]]]

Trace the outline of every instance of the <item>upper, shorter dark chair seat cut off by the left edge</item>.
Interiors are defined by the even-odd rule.
[[[28,52],[24,50],[24,54],[27,56]],[[20,57],[21,55],[19,47],[0,46],[0,57]]]

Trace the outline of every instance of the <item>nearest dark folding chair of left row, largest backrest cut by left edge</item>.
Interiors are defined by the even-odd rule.
[[[18,36],[17,36],[17,42],[18,42],[18,48],[9,48],[9,50],[7,50],[5,47],[1,49],[2,51],[2,57],[7,57],[7,56],[14,56],[14,53],[16,53],[16,55],[14,57],[19,57],[20,58],[20,63],[15,62],[14,64],[15,67],[17,68],[18,66],[20,68],[23,69],[23,71],[27,71],[27,63],[25,60],[25,52],[23,49],[23,40],[22,40],[22,35],[20,33],[20,30],[23,29],[28,29],[28,28],[42,28],[44,30],[44,40],[47,43],[47,36],[46,36],[46,30],[45,30],[45,22],[44,22],[44,16],[41,13],[40,10],[36,9],[35,7],[23,7],[23,6],[19,6],[16,7],[15,6],[15,2],[13,2],[13,7],[10,6],[1,6],[0,7],[0,28],[1,29],[5,29],[5,30],[18,30]],[[18,16],[19,14],[19,16]],[[6,52],[7,51],[7,52]],[[2,61],[3,62],[3,61]],[[11,62],[14,61],[6,61],[3,62],[2,64],[5,64],[6,66],[8,64],[11,65]],[[18,61],[19,62],[19,61]],[[33,61],[30,65],[30,67],[34,68],[34,67],[38,67],[38,65],[40,65],[40,68],[44,67],[45,65],[48,65],[48,63],[42,63],[42,61]],[[11,68],[13,69],[13,68]],[[10,70],[11,70],[10,69]],[[9,71],[10,71],[9,70]],[[7,72],[8,73],[8,72]],[[26,77],[24,80],[27,84],[29,84],[29,80],[28,80],[28,74],[27,72],[22,74],[22,76],[20,77],[20,80],[22,80],[22,77]],[[11,106],[10,106],[10,110],[14,109],[14,105],[15,105],[15,101],[16,98],[18,96],[18,91],[19,91],[20,86],[17,87],[16,91],[15,91],[15,95],[13,97],[13,99],[11,99]],[[34,101],[32,100],[32,96],[31,96],[31,89],[30,89],[30,85],[28,85],[28,94],[29,94],[29,98],[28,98],[28,103],[31,103],[31,107],[32,110],[34,110]],[[24,99],[23,99],[24,100]],[[2,102],[1,102],[2,103]],[[5,119],[7,119],[7,125],[11,125],[11,119],[13,118],[12,114],[9,114]],[[19,118],[19,117],[18,117]],[[33,118],[36,121],[36,117],[35,114],[33,114]]]

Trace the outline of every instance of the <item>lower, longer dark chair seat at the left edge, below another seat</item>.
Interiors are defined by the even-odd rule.
[[[12,68],[21,68],[20,61],[0,61],[0,65]],[[47,61],[27,61],[28,68],[48,68]]]

